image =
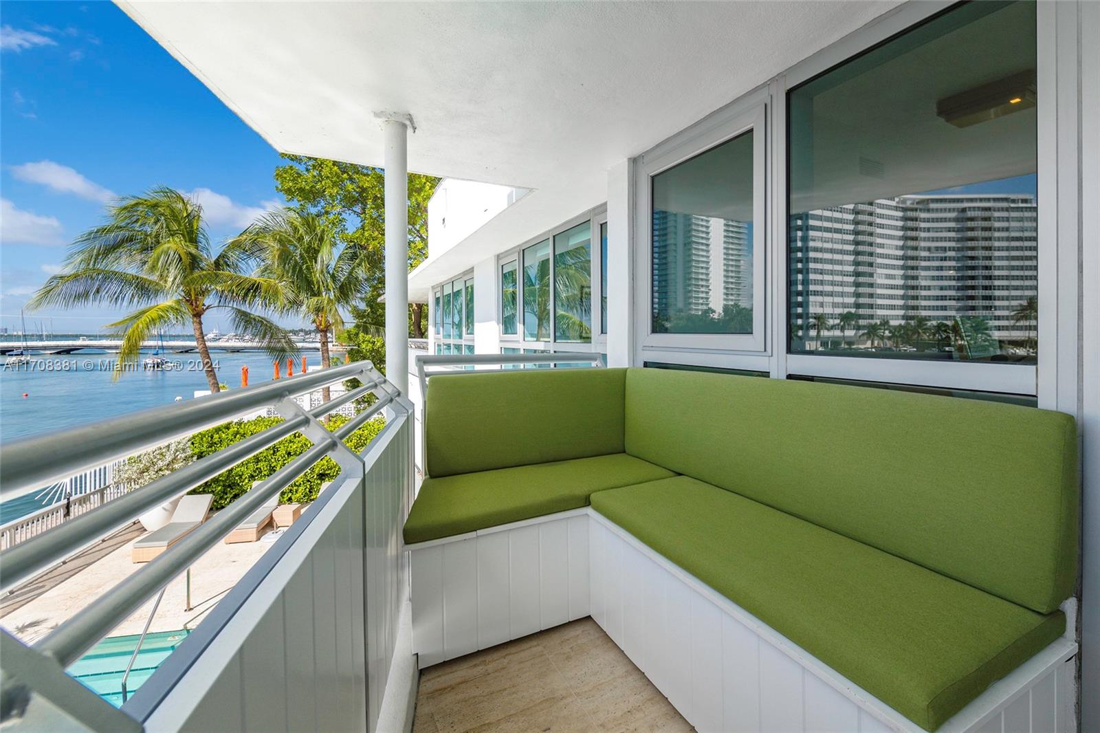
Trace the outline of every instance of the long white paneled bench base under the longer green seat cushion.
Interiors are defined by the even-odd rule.
[[[923,730],[591,508],[588,529],[592,617],[696,730]],[[939,731],[1072,733],[1076,653],[1058,639]]]

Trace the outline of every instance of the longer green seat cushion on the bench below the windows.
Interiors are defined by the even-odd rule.
[[[1065,631],[1041,614],[688,477],[592,507],[928,731]]]

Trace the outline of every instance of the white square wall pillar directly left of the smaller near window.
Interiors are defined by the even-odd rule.
[[[607,365],[634,363],[634,161],[607,172]]]

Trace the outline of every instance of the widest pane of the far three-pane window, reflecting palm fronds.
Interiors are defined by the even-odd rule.
[[[592,340],[592,227],[554,234],[554,339]]]

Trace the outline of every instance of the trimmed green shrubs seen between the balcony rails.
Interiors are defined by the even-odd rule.
[[[195,458],[205,458],[282,422],[282,417],[256,417],[251,420],[223,423],[193,435],[191,451],[195,453]],[[333,415],[327,427],[329,430],[336,430],[346,422],[346,417]],[[378,435],[384,426],[385,420],[375,417],[348,436],[344,439],[344,445],[358,453],[366,448],[366,445],[374,436]],[[213,494],[213,508],[216,510],[228,506],[233,500],[251,489],[253,481],[266,479],[306,452],[311,445],[306,436],[295,433],[210,479],[193,493]],[[284,503],[311,502],[317,499],[317,492],[320,491],[321,484],[326,481],[332,481],[339,473],[340,467],[337,466],[336,461],[324,457],[284,489],[283,493],[279,494],[279,501]]]

